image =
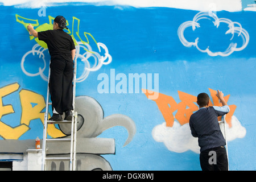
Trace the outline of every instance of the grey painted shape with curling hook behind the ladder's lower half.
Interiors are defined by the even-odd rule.
[[[112,170],[111,164],[102,156],[97,154],[114,154],[115,143],[111,138],[98,137],[105,130],[115,126],[122,126],[128,131],[128,137],[123,144],[125,147],[133,140],[136,133],[134,121],[123,114],[112,114],[104,117],[104,111],[101,105],[92,97],[79,96],[76,98],[76,108],[78,117],[77,131],[77,170]],[[49,125],[50,126],[50,125]],[[60,130],[67,135],[70,135],[70,126],[67,124],[59,124]],[[67,136],[65,138],[70,138]],[[63,146],[63,143],[49,143],[48,154],[61,154],[61,156],[69,156],[69,145]],[[96,155],[93,155],[96,154]],[[49,155],[49,156],[51,156]],[[89,165],[88,165],[89,164]],[[56,168],[69,168],[69,162],[49,162],[47,168],[55,170]]]

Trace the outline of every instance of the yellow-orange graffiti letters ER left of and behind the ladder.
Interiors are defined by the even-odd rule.
[[[1,103],[3,97],[16,92],[19,87],[20,85],[18,83],[14,83],[1,88]],[[20,106],[22,110],[22,114],[20,116],[20,123],[19,125],[11,127],[5,122],[0,121],[0,136],[3,139],[19,139],[21,135],[30,130],[30,122],[34,119],[40,119],[42,123],[44,122],[44,113],[42,113],[42,110],[44,109],[44,107],[46,107],[46,102],[43,96],[30,90],[21,89],[19,91],[19,98],[16,99],[20,100]],[[12,105],[1,105],[0,118],[2,118],[3,115],[11,114],[14,112],[15,111]],[[49,126],[48,134],[54,138],[64,136],[63,133],[61,133],[54,126]]]

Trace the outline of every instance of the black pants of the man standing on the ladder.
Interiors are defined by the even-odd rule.
[[[49,78],[49,92],[53,107],[59,114],[73,110],[73,61],[51,60],[51,74]]]

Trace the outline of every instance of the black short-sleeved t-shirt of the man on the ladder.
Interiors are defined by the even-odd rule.
[[[61,29],[47,30],[38,32],[38,39],[47,44],[51,60],[64,59],[73,61],[71,50],[75,49],[75,44],[71,35]]]

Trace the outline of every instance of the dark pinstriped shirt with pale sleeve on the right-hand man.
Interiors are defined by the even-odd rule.
[[[228,105],[202,107],[191,115],[189,126],[192,136],[198,137],[200,152],[226,145],[218,123],[218,116],[227,114],[229,110]]]

